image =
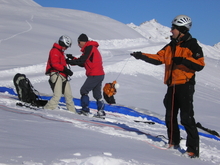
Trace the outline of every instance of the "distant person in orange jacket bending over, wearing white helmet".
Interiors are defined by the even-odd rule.
[[[117,93],[117,88],[119,88],[119,84],[117,81],[113,81],[112,83],[106,83],[103,88],[103,96],[107,103],[115,104],[114,95]]]

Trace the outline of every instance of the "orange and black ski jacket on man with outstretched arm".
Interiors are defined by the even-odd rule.
[[[205,62],[202,48],[190,33],[185,34],[180,41],[172,40],[157,54],[142,53],[141,59],[154,65],[165,64],[164,84],[168,86],[195,84],[195,72],[204,68]],[[183,57],[182,63],[173,63],[173,57]]]

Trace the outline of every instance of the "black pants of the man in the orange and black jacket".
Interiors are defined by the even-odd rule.
[[[178,111],[180,109],[181,124],[187,133],[186,146],[188,152],[199,156],[199,135],[196,128],[193,111],[194,85],[190,83],[168,87],[164,98],[166,108],[166,126],[170,144],[180,143],[180,130],[178,127]]]

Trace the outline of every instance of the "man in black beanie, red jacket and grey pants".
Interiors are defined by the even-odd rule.
[[[82,55],[79,58],[69,55],[71,60],[67,59],[70,65],[79,65],[85,67],[87,79],[80,89],[82,109],[79,114],[88,115],[89,109],[89,92],[93,92],[93,97],[97,103],[97,117],[104,117],[104,101],[102,100],[102,81],[104,80],[104,69],[102,66],[102,56],[98,50],[98,42],[89,41],[86,34],[78,37],[78,45],[81,48]]]

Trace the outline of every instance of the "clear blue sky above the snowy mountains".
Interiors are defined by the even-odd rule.
[[[156,19],[171,26],[180,14],[192,18],[191,34],[200,42],[213,46],[220,42],[220,0],[34,0],[43,7],[88,11],[122,23],[140,25]]]

